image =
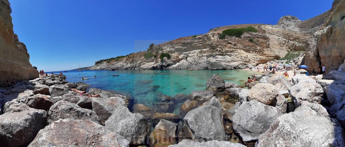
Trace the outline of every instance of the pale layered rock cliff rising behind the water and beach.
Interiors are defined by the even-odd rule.
[[[327,69],[333,70],[345,58],[342,48],[344,7],[344,0],[336,0],[330,10],[304,21],[283,16],[276,25],[217,27],[202,35],[178,38],[154,45],[144,52],[98,63],[88,70],[241,69],[279,59],[293,50],[306,51],[305,60],[299,63],[307,65],[309,71],[317,70],[321,62],[325,63]],[[248,26],[254,27],[257,32],[245,32],[240,38],[226,36],[225,39],[219,39],[223,30]],[[169,53],[171,58],[160,59],[161,53]],[[153,57],[145,58],[147,54]],[[287,61],[288,64],[292,62]]]

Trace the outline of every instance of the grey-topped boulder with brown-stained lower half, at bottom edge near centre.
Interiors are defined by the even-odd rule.
[[[176,144],[176,124],[161,119],[150,134],[150,147],[167,147]]]

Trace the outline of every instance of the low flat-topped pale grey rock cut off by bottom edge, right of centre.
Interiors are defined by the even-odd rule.
[[[207,142],[197,142],[190,139],[182,140],[176,145],[170,145],[168,147],[245,147],[245,145],[239,143],[231,143],[230,141],[218,141],[211,140]]]

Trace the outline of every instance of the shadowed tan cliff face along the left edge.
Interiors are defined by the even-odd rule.
[[[11,7],[8,0],[0,0],[0,85],[7,79],[38,78],[38,71],[29,62],[26,46],[13,33]]]

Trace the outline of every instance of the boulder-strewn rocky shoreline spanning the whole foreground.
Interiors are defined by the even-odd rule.
[[[153,108],[49,75],[0,89],[1,146],[344,146],[345,63],[324,76],[257,75],[251,89],[213,75],[206,90]],[[292,101],[287,98],[291,97]],[[179,114],[166,113],[185,100]]]

